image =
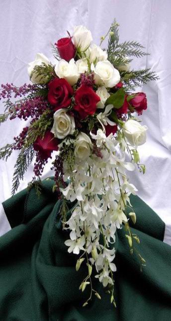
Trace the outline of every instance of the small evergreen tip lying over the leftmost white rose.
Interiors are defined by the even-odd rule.
[[[39,80],[45,79],[46,83],[52,80],[53,77],[56,77],[54,66],[51,64],[47,65],[44,62],[41,65],[36,65],[30,75],[30,79],[33,74],[36,74],[36,78],[39,77]]]

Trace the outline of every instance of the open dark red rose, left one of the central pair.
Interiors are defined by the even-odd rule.
[[[48,101],[54,106],[54,110],[66,108],[71,104],[73,88],[67,80],[61,78],[53,79],[49,84]]]

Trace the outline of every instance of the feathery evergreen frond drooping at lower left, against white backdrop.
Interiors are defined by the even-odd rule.
[[[14,195],[16,190],[18,189],[20,180],[23,179],[24,173],[27,170],[30,163],[32,162],[34,155],[35,151],[32,145],[28,148],[23,147],[20,154],[18,155],[14,166],[14,173],[12,178],[12,195]]]

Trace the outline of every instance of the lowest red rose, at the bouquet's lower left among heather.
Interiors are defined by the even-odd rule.
[[[47,131],[43,138],[38,137],[33,144],[34,150],[38,151],[42,158],[47,159],[53,151],[58,151],[58,140]]]

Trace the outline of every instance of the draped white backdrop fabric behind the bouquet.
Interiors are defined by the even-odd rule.
[[[28,82],[27,63],[37,52],[52,59],[51,42],[66,36],[66,30],[72,34],[75,25],[89,28],[98,44],[114,17],[120,24],[120,40],[137,40],[151,54],[134,60],[132,67],[152,68],[160,77],[139,89],[148,98],[142,116],[149,128],[147,143],[139,148],[147,170],[145,175],[133,172],[130,181],[166,223],[165,242],[171,244],[171,0],[1,0],[0,83]],[[2,124],[0,146],[11,143],[23,125],[20,120]],[[17,152],[7,162],[0,161],[0,204],[10,196],[16,157]],[[50,165],[44,177],[52,174],[49,169]],[[27,186],[32,170],[30,166],[19,190]],[[8,229],[1,206],[0,235]]]

